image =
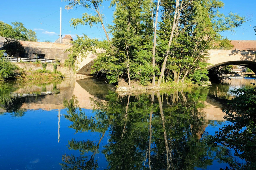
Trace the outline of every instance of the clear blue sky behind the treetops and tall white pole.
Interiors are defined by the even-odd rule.
[[[62,7],[62,35],[70,34],[74,39],[75,34],[83,33],[90,38],[104,39],[102,29],[89,26],[79,26],[77,29],[70,27],[71,18],[80,18],[82,13],[86,11],[84,8],[75,8],[67,11],[65,5],[67,2],[61,0],[1,0],[0,20],[5,23],[19,21],[28,29],[36,31],[37,38],[40,40],[54,41],[59,35],[60,7]],[[230,40],[256,40],[254,26],[256,26],[256,1],[255,0],[223,0],[224,9],[221,12],[228,14],[229,12],[238,13],[243,16],[250,16],[252,19],[237,28],[236,32],[224,32],[222,35]],[[104,3],[102,11],[104,13],[104,22],[111,24],[113,8],[109,9],[110,1]],[[42,23],[42,24],[41,24]],[[251,25],[251,26],[250,26]]]

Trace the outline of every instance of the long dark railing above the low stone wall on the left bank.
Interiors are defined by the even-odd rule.
[[[2,57],[10,62],[38,62],[41,63],[49,63],[49,64],[55,64],[56,62],[60,62],[60,60],[53,60],[53,59],[43,59],[43,58],[29,58],[29,57]]]

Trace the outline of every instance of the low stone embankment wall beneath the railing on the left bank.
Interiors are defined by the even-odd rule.
[[[25,71],[36,71],[39,69],[43,69],[42,64],[34,64],[34,63],[23,63],[23,62],[14,62],[15,65],[24,69]],[[46,70],[50,70],[53,72],[53,64],[47,64]],[[57,71],[60,71],[65,77],[76,77],[76,74],[72,71],[71,68],[65,68],[60,65],[57,66]]]

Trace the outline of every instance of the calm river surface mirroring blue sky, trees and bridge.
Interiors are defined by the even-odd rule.
[[[250,82],[146,94],[93,78],[1,84],[0,169],[225,169],[233,151],[209,139],[229,124],[231,90]]]

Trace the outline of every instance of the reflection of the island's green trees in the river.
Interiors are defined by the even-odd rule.
[[[80,156],[64,154],[62,169],[96,169],[98,153],[104,154],[107,169],[206,168],[216,151],[224,152],[204,132],[213,124],[201,112],[207,92],[208,88],[137,96],[109,92],[107,102],[94,101],[93,117],[78,107],[75,97],[64,100],[65,118],[72,122],[69,127],[76,132],[97,132],[100,137],[98,141],[70,140],[68,148],[79,150]],[[102,142],[106,132],[108,143]]]

